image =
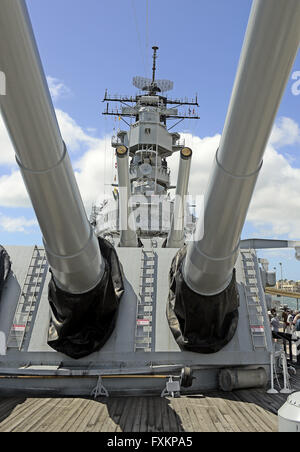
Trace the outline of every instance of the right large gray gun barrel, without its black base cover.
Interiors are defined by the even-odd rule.
[[[299,0],[253,2],[205,195],[204,224],[197,224],[183,268],[185,282],[199,294],[218,294],[232,278],[263,153],[299,42]]]

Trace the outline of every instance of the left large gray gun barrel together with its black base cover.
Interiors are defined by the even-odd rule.
[[[0,68],[2,115],[52,271],[48,344],[81,358],[113,331],[123,281],[115,251],[87,219],[24,0],[1,1]]]

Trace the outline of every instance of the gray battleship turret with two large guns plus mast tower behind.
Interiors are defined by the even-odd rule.
[[[167,123],[198,119],[198,99],[168,98],[173,83],[156,79],[153,47],[152,79],[134,78],[136,97],[105,93],[104,114],[131,123],[112,139],[113,197],[89,221],[25,2],[2,0],[1,112],[44,246],[1,248],[0,394],[178,395],[267,383],[273,275],[255,248],[276,243],[241,241],[241,232],[299,42],[298,0],[254,0],[197,220],[187,196],[193,149]]]

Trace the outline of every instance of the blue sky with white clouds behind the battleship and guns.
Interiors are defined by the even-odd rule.
[[[200,121],[186,121],[177,130],[199,137],[198,141],[193,138],[193,144],[199,144],[199,153],[212,154],[222,133],[251,3],[250,0],[27,0],[62,133],[78,171],[84,199],[90,202],[88,191],[91,187],[98,190],[97,180],[99,192],[103,191],[104,175],[109,183],[112,174],[110,146],[104,138],[119,124],[101,115],[105,89],[111,93],[135,94],[132,77],[150,75],[152,45],[160,47],[158,78],[169,78],[175,83],[170,94],[192,97],[198,93]],[[297,71],[300,71],[300,53],[292,74]],[[292,74],[266,157],[266,175],[258,187],[243,237],[300,239],[296,191],[299,187],[299,197],[300,95],[292,93],[295,83]],[[0,149],[0,243],[40,243],[34,214],[25,198],[18,203],[11,196],[11,202],[1,203],[1,187],[4,190],[3,187],[13,186],[1,185],[1,181],[6,178],[5,182],[11,179],[11,184],[20,183],[12,159],[3,158],[1,163],[1,153],[5,152],[11,151]],[[199,168],[199,175],[201,168],[206,169],[206,161],[201,158],[194,166],[195,172]],[[97,159],[102,166],[97,174],[95,170],[94,185],[89,189],[85,171]],[[291,251],[261,255],[268,255],[271,267],[279,268],[278,262],[283,262],[284,277],[300,279],[300,263],[293,259]]]

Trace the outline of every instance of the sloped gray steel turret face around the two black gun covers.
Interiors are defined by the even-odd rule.
[[[253,250],[242,250],[236,265],[240,295],[237,332],[221,351],[203,355],[181,351],[167,322],[168,270],[177,250],[118,248],[126,290],[116,328],[101,351],[80,360],[73,360],[47,345],[48,266],[42,269],[36,285],[35,273],[26,279],[34,268],[34,247],[8,246],[7,251],[13,272],[0,305],[0,331],[7,340],[6,355],[0,356],[0,394],[88,395],[99,376],[106,376],[103,384],[109,393],[160,393],[166,385],[166,378],[160,377],[180,375],[184,366],[194,370],[196,378],[188,389],[193,392],[216,388],[222,368],[264,367],[268,372],[272,339]],[[30,306],[22,304],[26,315],[20,324],[15,313],[20,311],[20,293],[24,293],[24,287],[29,294],[35,287],[35,297]],[[116,378],[117,375],[121,377]],[[145,377],[137,377],[141,375]]]

